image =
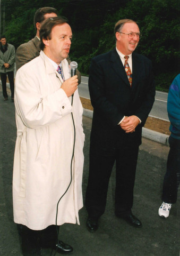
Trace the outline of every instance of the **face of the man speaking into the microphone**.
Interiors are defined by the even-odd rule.
[[[72,31],[70,25],[64,23],[53,27],[51,39],[43,39],[45,54],[59,64],[62,60],[67,58],[70,52],[71,39]]]

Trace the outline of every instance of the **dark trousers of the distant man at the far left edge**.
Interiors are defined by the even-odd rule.
[[[10,81],[10,90],[11,90],[11,98],[14,99],[14,71],[10,71],[7,73],[1,73],[1,82],[2,82],[2,88],[3,88],[3,96],[4,98],[7,98],[7,90],[6,90],[6,81]]]

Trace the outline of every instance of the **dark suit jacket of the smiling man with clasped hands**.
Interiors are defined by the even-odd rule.
[[[142,126],[155,100],[151,61],[132,54],[132,89],[116,49],[92,59],[89,92],[94,108],[91,144],[102,150],[114,150],[128,137],[132,145],[141,144]],[[142,123],[133,133],[117,125],[124,116],[138,116]]]

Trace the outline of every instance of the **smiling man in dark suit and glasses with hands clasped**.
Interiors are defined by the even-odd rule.
[[[116,49],[93,58],[89,74],[94,110],[85,206],[91,232],[105,211],[115,161],[115,215],[134,227],[142,226],[131,209],[142,126],[155,100],[155,83],[151,61],[134,53],[141,37],[136,22],[119,20],[115,36]]]

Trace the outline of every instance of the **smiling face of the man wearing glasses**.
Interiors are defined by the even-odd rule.
[[[127,22],[124,24],[122,33],[140,33],[139,27],[135,22]],[[132,39],[128,38],[128,35],[116,33],[116,46],[117,49],[125,55],[131,54],[139,43],[139,38],[134,35]]]

